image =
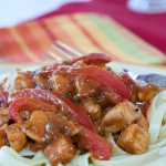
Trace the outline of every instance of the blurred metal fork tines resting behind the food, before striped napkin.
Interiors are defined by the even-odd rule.
[[[77,51],[76,49],[55,40],[51,45],[51,50],[46,52],[46,54],[53,58],[55,61],[64,61],[64,60],[72,60],[75,58],[82,56],[84,53]]]

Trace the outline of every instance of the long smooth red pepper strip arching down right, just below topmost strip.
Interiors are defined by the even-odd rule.
[[[132,92],[121,82],[113,73],[107,72],[95,65],[87,65],[82,68],[72,68],[63,65],[58,70],[59,73],[69,74],[72,76],[83,75],[101,83],[102,85],[113,90],[123,98],[129,98]]]

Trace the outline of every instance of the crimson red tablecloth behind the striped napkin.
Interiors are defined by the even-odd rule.
[[[143,40],[166,53],[166,12],[145,14],[131,11],[126,0],[92,0],[87,3],[73,2],[40,18],[60,15],[74,12],[104,13],[129,29]]]

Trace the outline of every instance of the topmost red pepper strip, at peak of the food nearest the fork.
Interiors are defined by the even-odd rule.
[[[87,65],[90,64],[101,64],[101,63],[107,63],[111,62],[111,58],[103,53],[90,53],[87,55],[80,56],[77,59],[74,59],[73,61],[69,62],[69,64],[74,64],[75,62],[83,60],[83,62]]]

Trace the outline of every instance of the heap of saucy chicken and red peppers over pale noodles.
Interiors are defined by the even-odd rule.
[[[116,73],[108,62],[91,53],[4,77],[0,156],[52,166],[114,165],[123,157],[139,165],[158,157],[166,144],[165,89]]]

